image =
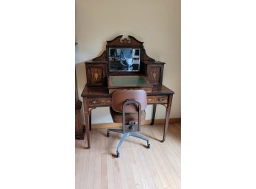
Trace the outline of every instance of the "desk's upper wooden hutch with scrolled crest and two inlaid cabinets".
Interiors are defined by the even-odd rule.
[[[146,50],[143,47],[143,42],[128,35],[128,38],[122,39],[123,35],[119,35],[113,40],[108,40],[106,50],[102,52],[99,57],[93,58],[93,60],[85,62],[87,86],[107,86],[108,76],[145,76],[152,86],[162,85],[163,81],[163,62],[155,61],[152,57],[146,54]],[[118,51],[118,49],[129,49],[130,51],[136,51],[138,55],[137,70],[122,71],[112,70],[112,63],[110,60],[110,52]],[[122,51],[122,50],[121,50]],[[120,50],[119,59],[121,61]],[[121,52],[122,53],[122,52]],[[123,55],[124,56],[124,55]],[[126,58],[124,56],[124,58]],[[114,60],[115,61],[115,60]]]

